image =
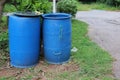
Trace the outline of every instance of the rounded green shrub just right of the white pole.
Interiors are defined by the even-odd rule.
[[[77,1],[76,0],[60,0],[57,3],[58,12],[69,13],[75,16],[77,12]]]

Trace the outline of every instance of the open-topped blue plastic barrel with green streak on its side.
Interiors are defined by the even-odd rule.
[[[45,60],[63,64],[70,59],[71,15],[65,13],[43,15],[43,46]]]

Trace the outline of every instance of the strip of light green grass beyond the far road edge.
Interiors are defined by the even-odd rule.
[[[120,7],[112,7],[103,3],[89,3],[89,4],[83,4],[81,2],[78,3],[78,11],[86,11],[86,10],[93,10],[93,9],[99,9],[99,10],[110,10],[110,11],[120,11]]]

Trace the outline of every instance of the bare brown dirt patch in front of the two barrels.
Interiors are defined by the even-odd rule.
[[[40,61],[35,67],[26,69],[5,68],[4,66],[0,68],[0,77],[14,77],[16,80],[20,80],[32,76],[32,80],[47,80],[47,78],[55,77],[59,73],[75,72],[78,70],[79,65],[72,61],[62,65],[52,65],[47,64],[45,61]]]

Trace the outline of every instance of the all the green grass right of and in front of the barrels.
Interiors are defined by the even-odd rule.
[[[112,78],[112,58],[89,39],[87,26],[84,22],[72,20],[72,47],[76,47],[78,51],[72,52],[71,61],[78,64],[79,70],[59,74],[53,72],[51,74],[55,77],[49,77],[47,80],[114,80]],[[30,71],[34,75],[34,69],[31,68]],[[47,73],[50,75],[49,72]],[[32,75],[26,74],[22,80],[32,80]],[[0,78],[0,80],[11,79],[15,80]]]

